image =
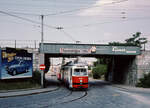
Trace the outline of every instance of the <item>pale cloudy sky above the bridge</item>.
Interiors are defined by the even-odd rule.
[[[150,0],[0,0],[0,40],[41,40],[41,15],[45,42],[150,40],[149,11]]]

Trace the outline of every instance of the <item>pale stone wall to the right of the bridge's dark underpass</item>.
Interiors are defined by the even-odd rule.
[[[135,86],[144,74],[150,72],[150,51],[142,51],[141,55],[130,61],[127,71],[126,85]]]

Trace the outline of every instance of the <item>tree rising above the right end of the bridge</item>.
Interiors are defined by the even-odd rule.
[[[136,32],[131,38],[125,40],[126,44],[141,47],[142,44],[147,43],[147,38],[140,38],[140,36],[141,32]]]

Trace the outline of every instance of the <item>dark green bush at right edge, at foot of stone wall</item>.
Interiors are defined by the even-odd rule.
[[[139,83],[136,86],[150,88],[150,73],[145,74],[144,77],[140,79]]]

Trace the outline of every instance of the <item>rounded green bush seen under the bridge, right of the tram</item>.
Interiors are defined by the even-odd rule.
[[[93,78],[99,79],[101,78],[102,75],[105,75],[106,72],[107,72],[107,65],[99,64],[92,70]]]

